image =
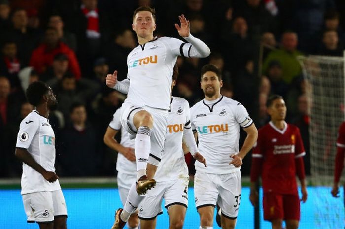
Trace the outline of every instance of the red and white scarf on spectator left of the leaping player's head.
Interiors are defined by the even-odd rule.
[[[100,38],[100,28],[98,23],[98,9],[89,10],[85,8],[85,5],[81,5],[81,11],[87,18],[87,28],[86,28],[86,37],[87,38]]]

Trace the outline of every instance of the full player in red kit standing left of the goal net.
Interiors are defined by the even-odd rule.
[[[283,98],[273,95],[267,100],[271,121],[259,129],[252,154],[250,196],[253,206],[258,204],[255,184],[261,175],[264,190],[264,219],[272,229],[297,229],[300,221],[300,200],[296,174],[301,182],[302,202],[307,200],[303,156],[306,154],[298,127],[285,122],[286,106]]]

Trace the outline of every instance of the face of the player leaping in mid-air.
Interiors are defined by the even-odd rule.
[[[134,17],[132,28],[139,37],[153,36],[156,24],[152,13],[149,11],[139,11]]]

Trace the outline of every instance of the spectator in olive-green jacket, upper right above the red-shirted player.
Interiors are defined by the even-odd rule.
[[[279,61],[283,70],[283,80],[287,84],[290,84],[292,80],[302,72],[301,65],[297,60],[297,56],[302,55],[302,53],[296,49],[298,44],[297,34],[292,31],[285,31],[282,36],[281,44],[282,47],[280,49],[273,50],[268,54],[267,58],[264,60],[263,70],[267,72],[268,65],[271,61]]]

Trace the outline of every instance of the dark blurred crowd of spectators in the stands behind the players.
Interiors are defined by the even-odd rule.
[[[103,143],[113,113],[126,98],[105,76],[127,74],[137,46],[133,11],[156,9],[155,35],[178,37],[178,15],[211,49],[206,59],[178,58],[173,95],[193,106],[204,98],[200,68],[222,70],[224,96],[241,102],[257,127],[266,124],[266,100],[286,101],[287,122],[304,140],[310,173],[307,98],[299,55],[343,56],[344,0],[0,0],[0,177],[20,177],[14,150],[21,120],[32,111],[25,90],[41,80],[57,95],[49,121],[56,134],[59,176],[113,176],[116,152]],[[118,139],[119,140],[119,139]],[[249,175],[250,155],[242,175]],[[193,159],[186,156],[190,173]]]

